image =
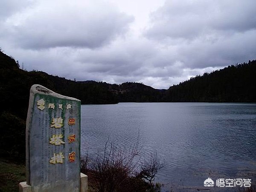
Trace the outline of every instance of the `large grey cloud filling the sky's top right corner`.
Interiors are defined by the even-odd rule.
[[[256,29],[253,0],[195,0],[166,1],[151,15],[149,38],[194,39],[230,30],[244,32]]]

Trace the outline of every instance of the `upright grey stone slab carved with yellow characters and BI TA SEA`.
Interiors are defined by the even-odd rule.
[[[26,182],[33,192],[80,191],[80,108],[78,99],[31,87]]]

